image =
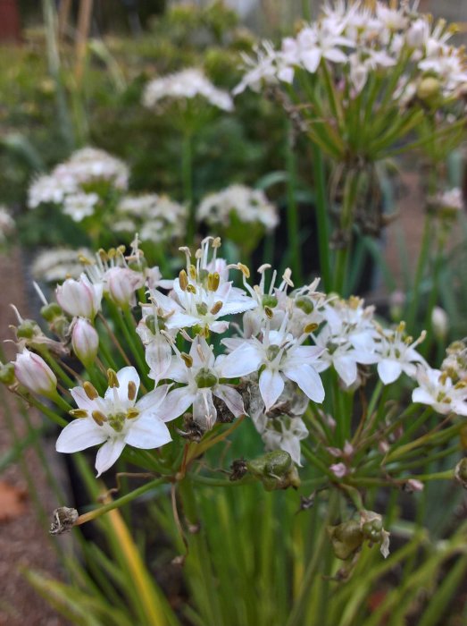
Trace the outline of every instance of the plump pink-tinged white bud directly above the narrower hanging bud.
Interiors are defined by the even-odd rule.
[[[56,289],[57,302],[72,317],[94,319],[101,308],[102,284],[92,284],[81,274],[78,281],[67,278]]]

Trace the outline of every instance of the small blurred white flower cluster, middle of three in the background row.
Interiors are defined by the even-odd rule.
[[[184,237],[187,207],[156,193],[124,196],[115,209],[115,233],[139,233],[141,241],[170,241]]]

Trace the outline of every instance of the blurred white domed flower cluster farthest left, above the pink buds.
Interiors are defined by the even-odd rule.
[[[29,208],[41,204],[63,205],[75,222],[92,216],[108,190],[128,189],[129,168],[104,150],[82,148],[50,174],[39,176],[29,187]]]

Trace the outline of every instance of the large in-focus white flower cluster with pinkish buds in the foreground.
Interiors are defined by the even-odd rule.
[[[245,265],[218,257],[220,246],[219,238],[207,237],[194,258],[188,248],[180,249],[186,267],[164,280],[158,267],[146,265],[135,241],[127,257],[119,248],[83,258],[85,273],[57,287],[56,303],[45,303],[45,317],[63,338],[60,351],[72,351],[86,368],[95,363],[100,346],[95,319],[105,315],[108,300],[124,316],[138,306],[137,339],[146,360],[146,370],[138,363],[139,372],[111,371],[104,397],[90,383],[72,390],[76,419],[64,429],[58,450],[104,444],[96,461],[100,473],[125,444],[166,444],[171,437],[165,423],[179,416],[186,421],[189,416],[187,423],[202,435],[218,420],[248,414],[267,450],[281,449],[300,465],[300,442],[308,436],[304,412],[324,401],[321,374],[329,368],[347,390],[364,385],[370,366],[383,385],[404,374],[418,384],[413,402],[441,414],[467,415],[463,343],[451,346],[441,370],[432,369],[417,351],[424,334],[413,340],[403,322],[383,328],[363,300],[319,292],[319,279],[296,288],[290,270],[278,281],[277,272],[263,265],[252,284]],[[242,287],[234,285],[232,272]],[[137,305],[142,290],[147,300]],[[233,335],[227,334],[232,316]],[[29,391],[53,398],[56,378],[30,350],[49,343],[56,351],[60,343],[37,325],[23,335],[19,345],[27,350],[14,362],[16,378]],[[137,400],[142,376],[154,381],[154,390]]]

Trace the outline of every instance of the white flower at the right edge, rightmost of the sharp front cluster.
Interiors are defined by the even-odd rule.
[[[467,386],[463,382],[453,385],[446,372],[428,366],[417,368],[420,386],[413,390],[412,401],[428,404],[441,415],[456,413],[467,416]]]

